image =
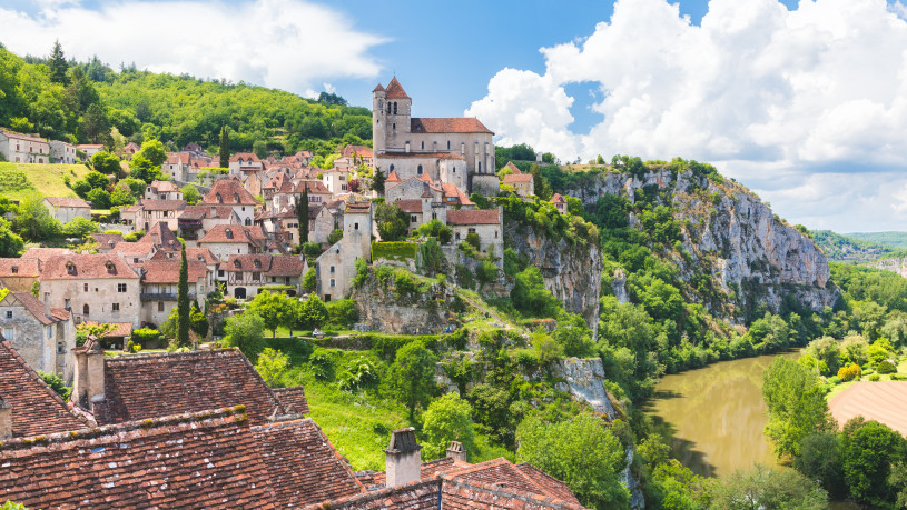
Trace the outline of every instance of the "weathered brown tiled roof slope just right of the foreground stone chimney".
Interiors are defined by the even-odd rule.
[[[105,400],[95,404],[98,423],[121,423],[166,414],[246,406],[253,423],[277,411],[277,396],[238,350],[125,356],[105,361]]]

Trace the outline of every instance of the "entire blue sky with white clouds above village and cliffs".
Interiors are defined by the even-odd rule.
[[[779,216],[907,230],[900,0],[0,0],[0,42],[474,116],[561,161],[708,161]]]

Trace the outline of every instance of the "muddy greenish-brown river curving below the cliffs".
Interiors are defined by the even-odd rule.
[[[697,474],[716,477],[776,463],[762,433],[766,404],[762,372],[776,356],[721,361],[683,373],[664,376],[645,412],[668,429],[680,461]]]

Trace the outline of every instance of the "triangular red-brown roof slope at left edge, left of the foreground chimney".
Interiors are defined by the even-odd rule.
[[[72,412],[26,363],[16,348],[2,339],[0,339],[0,399],[12,404],[14,438],[63,432],[89,426],[88,420]],[[9,471],[6,468],[0,469],[0,477]]]

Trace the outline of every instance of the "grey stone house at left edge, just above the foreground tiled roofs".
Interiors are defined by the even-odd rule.
[[[51,309],[29,292],[10,292],[0,300],[0,329],[31,368],[72,383],[76,323],[71,313]]]

